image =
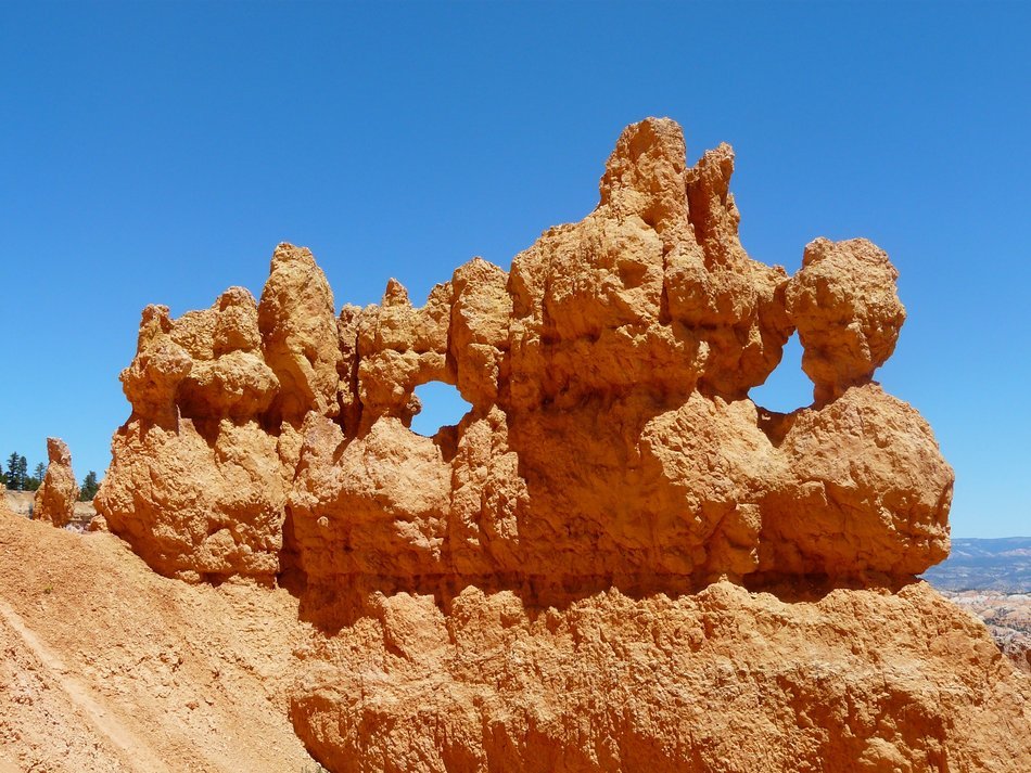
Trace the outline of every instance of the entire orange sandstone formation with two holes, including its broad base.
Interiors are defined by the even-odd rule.
[[[143,312],[96,499],[158,572],[279,583],[290,717],[332,771],[1026,771],[1031,687],[915,575],[953,473],[871,381],[887,255],[752,260],[721,145],[621,136],[601,201],[411,305],[338,314],[304,248],[258,300]],[[814,402],[749,399],[798,331]],[[471,403],[434,437],[413,389]]]

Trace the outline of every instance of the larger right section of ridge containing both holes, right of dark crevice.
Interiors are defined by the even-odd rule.
[[[693,169],[684,154],[672,121],[633,126],[598,208],[510,274],[476,259],[422,308],[392,281],[380,306],[345,310],[341,404],[360,420],[309,417],[289,502],[309,581],[689,584],[899,576],[945,555],[952,472],[870,382],[903,320],[887,257],[818,240],[790,279],[752,260],[733,152]],[[771,415],[747,394],[795,325],[817,402]],[[473,405],[432,441],[407,430],[428,381]]]

